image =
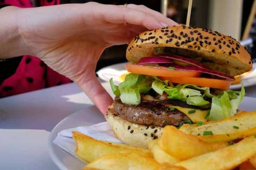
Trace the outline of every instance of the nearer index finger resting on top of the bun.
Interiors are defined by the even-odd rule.
[[[91,7],[92,11],[90,11],[90,13],[93,14],[94,20],[141,25],[147,29],[160,29],[163,27],[161,23],[151,15],[132,8],[97,3]]]

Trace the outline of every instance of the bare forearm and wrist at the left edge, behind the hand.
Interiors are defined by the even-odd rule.
[[[19,11],[21,8],[6,6],[0,9],[0,59],[22,56],[28,53],[20,36]]]

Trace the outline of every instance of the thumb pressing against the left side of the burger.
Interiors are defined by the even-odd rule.
[[[87,79],[87,82],[79,86],[103,115],[105,115],[108,111],[108,106],[113,103],[113,98],[102,87],[95,74],[87,77]]]

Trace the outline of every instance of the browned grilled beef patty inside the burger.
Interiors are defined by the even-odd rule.
[[[166,122],[168,122],[169,125],[177,127],[181,122],[190,120],[185,113],[177,109],[172,111],[169,107],[159,103],[152,102],[141,103],[140,105],[128,105],[122,103],[121,99],[116,96],[113,106],[114,111],[120,117],[140,125],[164,127]]]

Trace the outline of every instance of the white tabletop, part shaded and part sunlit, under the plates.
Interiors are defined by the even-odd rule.
[[[102,85],[114,97],[109,83]],[[256,97],[256,86],[246,92]],[[92,104],[74,83],[0,99],[0,111],[6,113],[0,120],[0,170],[58,170],[47,150],[50,131]]]

